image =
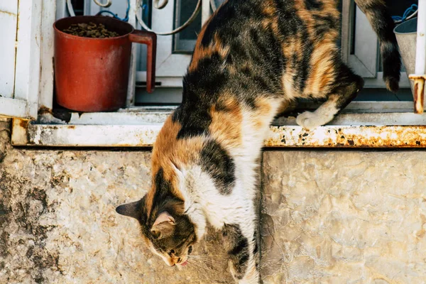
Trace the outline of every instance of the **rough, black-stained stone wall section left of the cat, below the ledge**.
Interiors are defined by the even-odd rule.
[[[148,151],[11,148],[1,130],[0,139],[1,284],[231,283],[219,234],[178,271],[141,244],[136,220],[116,214],[151,184]]]

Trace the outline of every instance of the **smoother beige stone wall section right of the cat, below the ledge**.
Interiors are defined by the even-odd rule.
[[[263,155],[265,283],[426,283],[426,152]]]

